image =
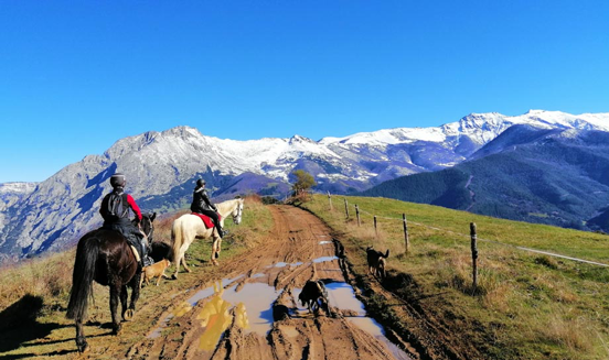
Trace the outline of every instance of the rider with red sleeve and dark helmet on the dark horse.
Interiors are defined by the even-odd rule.
[[[99,214],[104,218],[104,228],[120,232],[127,241],[138,249],[140,253],[141,266],[148,266],[153,261],[148,257],[148,244],[145,234],[129,220],[129,209],[135,214],[135,220],[139,225],[141,221],[141,211],[131,195],[125,193],[127,179],[121,173],[110,176],[113,192],[107,194],[101,200]]]

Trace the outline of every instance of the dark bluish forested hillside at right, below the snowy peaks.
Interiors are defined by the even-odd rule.
[[[609,217],[602,215],[609,204],[608,133],[514,126],[472,159],[452,168],[388,181],[361,195],[609,230]]]

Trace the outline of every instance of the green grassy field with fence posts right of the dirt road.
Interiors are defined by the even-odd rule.
[[[364,268],[365,247],[391,249],[383,286],[439,317],[489,359],[609,358],[609,268],[515,248],[609,264],[608,236],[386,198],[335,196],[332,203],[330,210],[328,197],[316,195],[300,206],[357,244],[360,260],[350,254],[355,269]],[[478,229],[476,291],[470,222]]]

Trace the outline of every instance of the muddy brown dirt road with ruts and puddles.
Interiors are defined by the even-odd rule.
[[[330,229],[295,207],[271,214],[266,243],[226,260],[215,281],[170,305],[128,358],[408,359],[366,317]],[[324,282],[330,316],[298,303],[310,279]]]

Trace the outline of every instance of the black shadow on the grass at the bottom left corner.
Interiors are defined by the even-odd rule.
[[[51,331],[66,326],[39,323],[43,305],[42,297],[28,294],[0,313],[0,352],[14,350],[24,342],[44,338]]]

